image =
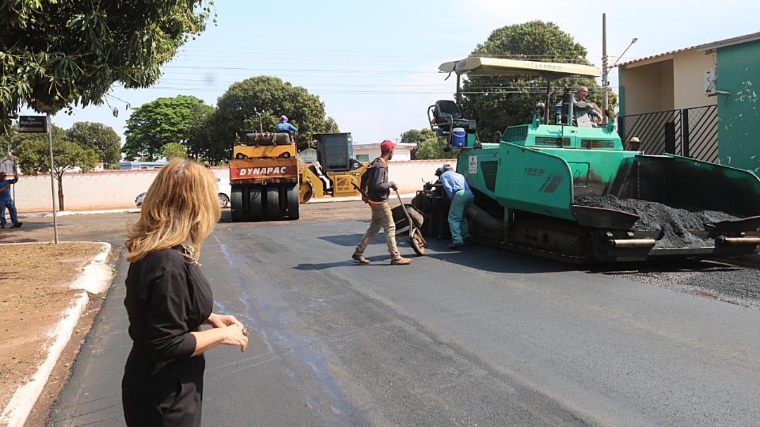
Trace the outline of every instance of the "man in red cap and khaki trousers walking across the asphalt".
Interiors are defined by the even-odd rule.
[[[369,223],[367,232],[359,240],[356,250],[353,251],[351,258],[356,259],[362,264],[369,264],[369,259],[364,257],[364,251],[367,249],[369,242],[378,234],[380,228],[385,231],[385,243],[388,245],[388,252],[391,253],[391,265],[407,265],[412,260],[403,258],[398,253],[396,247],[396,223],[393,221],[391,205],[388,204],[388,195],[391,188],[397,190],[393,181],[388,181],[388,162],[393,158],[393,147],[396,144],[391,140],[385,140],[380,144],[380,157],[373,160],[367,166],[366,172],[362,175],[361,190],[363,191],[362,199],[369,203],[372,209],[372,221]]]

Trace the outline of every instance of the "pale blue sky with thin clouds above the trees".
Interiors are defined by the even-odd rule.
[[[571,5],[572,8],[568,8]],[[303,86],[356,143],[395,139],[428,127],[427,107],[451,99],[455,79],[438,65],[467,55],[492,30],[530,20],[553,22],[601,66],[602,14],[607,54],[620,62],[760,30],[760,2],[543,2],[386,0],[251,2],[217,0],[209,24],[183,46],[150,89],[114,87],[109,105],[59,113],[53,123],[101,122],[122,136],[133,108],[160,97],[193,95],[215,105],[230,84],[259,75]],[[617,71],[610,72],[617,87]],[[112,108],[119,108],[114,118]],[[21,114],[36,114],[22,111]],[[287,111],[274,111],[287,115]]]

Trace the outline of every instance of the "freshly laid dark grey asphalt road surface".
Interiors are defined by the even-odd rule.
[[[365,221],[220,224],[201,263],[248,352],[207,352],[204,425],[739,426],[760,312],[480,246],[388,265]],[[402,243],[402,254],[413,255]],[[127,264],[49,425],[124,425]]]

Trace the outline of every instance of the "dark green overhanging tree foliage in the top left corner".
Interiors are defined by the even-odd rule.
[[[24,105],[71,113],[74,106],[106,102],[114,83],[153,85],[160,67],[205,29],[213,4],[0,2],[0,133],[8,132]]]

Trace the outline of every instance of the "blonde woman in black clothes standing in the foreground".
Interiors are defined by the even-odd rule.
[[[140,219],[128,226],[124,305],[133,343],[122,378],[128,426],[201,425],[204,351],[248,347],[242,323],[211,312],[214,297],[198,264],[201,243],[219,218],[214,175],[178,159],[157,174]]]

